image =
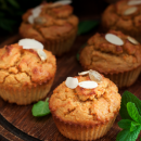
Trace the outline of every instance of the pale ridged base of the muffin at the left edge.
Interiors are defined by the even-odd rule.
[[[33,102],[37,102],[43,98],[47,97],[48,92],[51,89],[51,86],[53,84],[52,78],[50,81],[48,81],[44,85],[38,85],[37,87],[21,87],[21,88],[14,88],[14,87],[1,87],[0,88],[0,97],[8,101],[9,103],[16,103],[17,105],[27,105]]]

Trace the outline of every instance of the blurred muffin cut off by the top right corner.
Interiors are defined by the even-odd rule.
[[[120,30],[141,42],[141,1],[119,0],[106,8],[102,15],[102,26]]]

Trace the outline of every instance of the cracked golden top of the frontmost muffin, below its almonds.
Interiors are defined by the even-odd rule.
[[[76,76],[78,81],[90,80],[88,75]],[[49,107],[53,116],[68,124],[93,126],[112,119],[120,108],[117,87],[102,76],[97,88],[66,87],[63,81],[51,95]]]

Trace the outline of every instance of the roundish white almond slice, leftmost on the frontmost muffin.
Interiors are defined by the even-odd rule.
[[[78,79],[73,77],[67,77],[65,85],[70,89],[75,89],[78,86]]]

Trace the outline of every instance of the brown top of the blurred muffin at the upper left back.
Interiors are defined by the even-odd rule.
[[[78,18],[73,14],[70,5],[43,3],[40,7],[41,12],[34,18],[34,24],[28,22],[33,9],[23,15],[23,23],[20,27],[23,37],[35,37],[40,42],[44,42],[44,39],[65,37],[77,29]]]

